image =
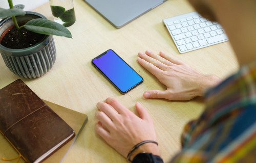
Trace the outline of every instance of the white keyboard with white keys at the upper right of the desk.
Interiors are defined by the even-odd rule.
[[[197,12],[163,19],[163,23],[180,53],[228,41],[219,23],[203,18]]]

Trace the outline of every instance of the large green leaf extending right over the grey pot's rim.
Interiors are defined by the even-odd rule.
[[[32,19],[24,25],[24,28],[39,34],[72,38],[70,31],[65,26],[48,19]]]

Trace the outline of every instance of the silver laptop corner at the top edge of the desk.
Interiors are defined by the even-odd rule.
[[[167,0],[84,0],[117,29]]]

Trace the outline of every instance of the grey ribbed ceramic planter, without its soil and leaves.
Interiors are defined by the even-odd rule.
[[[36,12],[26,12],[24,16],[17,16],[18,22],[29,21],[34,18],[45,18]],[[0,36],[13,25],[11,18],[0,22]],[[56,60],[56,48],[52,35],[46,35],[37,44],[23,49],[11,49],[0,44],[0,52],[6,66],[16,75],[24,78],[36,78],[46,74]]]

